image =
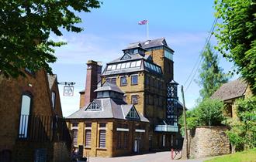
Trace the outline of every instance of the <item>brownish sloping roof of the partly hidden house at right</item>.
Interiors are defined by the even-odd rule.
[[[216,90],[211,96],[212,99],[230,100],[240,96],[244,96],[248,83],[242,79],[236,79],[229,83],[225,83]]]

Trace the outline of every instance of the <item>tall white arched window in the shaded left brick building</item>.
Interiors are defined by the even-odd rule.
[[[28,137],[31,101],[32,101],[32,98],[30,95],[28,94],[22,95],[20,120],[19,120],[19,138]]]

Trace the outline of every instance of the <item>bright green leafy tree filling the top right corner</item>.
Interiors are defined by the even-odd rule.
[[[215,0],[216,17],[222,20],[214,32],[218,49],[237,66],[256,94],[256,2]]]

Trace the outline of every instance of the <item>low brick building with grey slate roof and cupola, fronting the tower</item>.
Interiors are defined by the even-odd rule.
[[[133,104],[123,100],[123,91],[104,83],[95,93],[97,97],[91,103],[67,116],[67,126],[74,135],[74,149],[87,157],[116,157],[147,151],[149,121]]]

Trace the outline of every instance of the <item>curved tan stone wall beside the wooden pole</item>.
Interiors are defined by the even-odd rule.
[[[189,131],[189,157],[210,157],[222,154],[230,154],[230,142],[228,140],[227,127],[196,127]]]

